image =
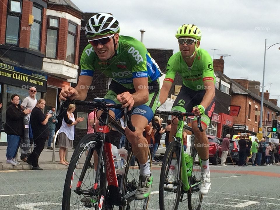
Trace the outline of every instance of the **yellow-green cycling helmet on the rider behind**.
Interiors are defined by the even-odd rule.
[[[180,26],[175,34],[176,38],[178,39],[181,36],[190,36],[197,40],[201,40],[201,31],[200,29],[194,24],[183,24]]]

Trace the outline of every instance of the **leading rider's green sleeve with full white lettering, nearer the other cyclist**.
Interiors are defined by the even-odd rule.
[[[146,47],[140,41],[134,41],[128,48],[129,62],[132,65],[133,78],[148,77]]]

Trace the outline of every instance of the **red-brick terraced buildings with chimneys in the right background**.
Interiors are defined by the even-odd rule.
[[[223,64],[222,61],[220,62]],[[231,84],[231,89],[229,90],[231,95],[231,108],[233,108],[233,106],[240,107],[239,114],[237,116],[231,116],[234,115],[234,113],[231,111],[229,113],[228,122],[230,122],[230,127],[233,126],[231,130],[229,130],[229,133],[237,134],[240,132],[247,132],[256,135],[260,122],[260,82],[249,81],[246,79],[230,79],[225,74],[223,74],[222,64],[216,65],[215,69],[214,61],[216,75],[217,77],[222,78],[225,82]],[[269,99],[269,93],[266,91],[264,93],[263,105],[263,130],[266,130],[266,121],[271,121],[272,118],[277,118],[279,120],[278,113],[280,113],[280,108],[277,106],[277,100]],[[266,135],[267,133],[264,133],[264,136]]]

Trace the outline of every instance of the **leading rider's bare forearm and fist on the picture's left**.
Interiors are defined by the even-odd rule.
[[[76,88],[65,85],[60,92],[59,98],[66,100],[69,97],[71,100],[85,100],[91,83],[92,76],[81,75]]]

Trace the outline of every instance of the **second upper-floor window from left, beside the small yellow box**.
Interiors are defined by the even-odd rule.
[[[29,48],[34,50],[40,50],[42,9],[33,6],[32,15],[34,16],[34,23],[30,28]]]

